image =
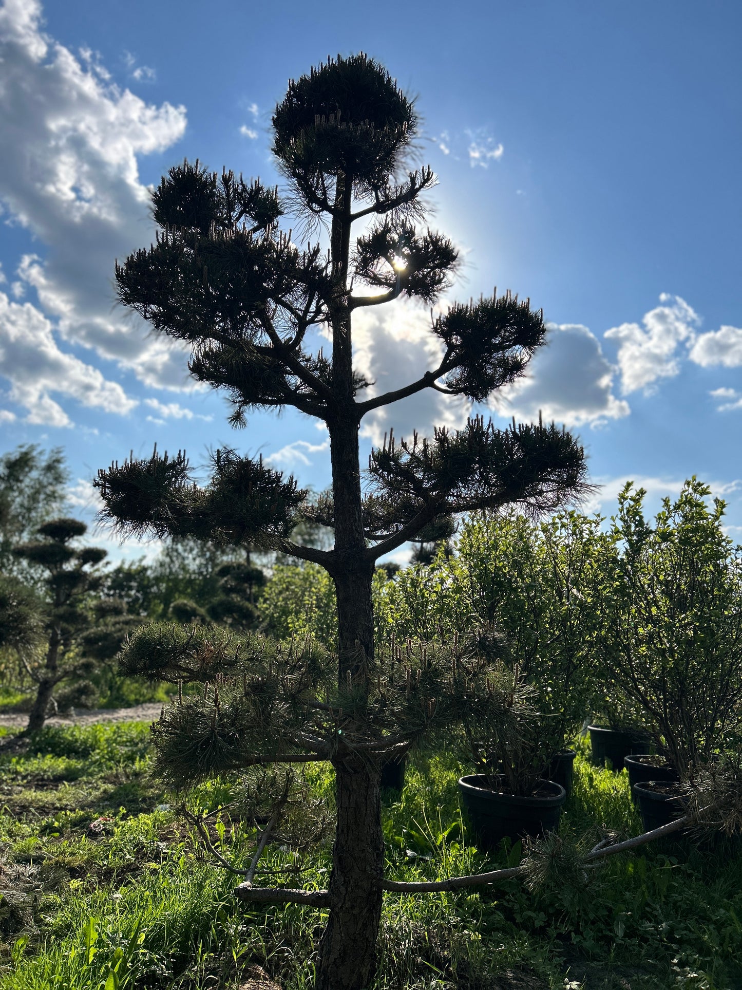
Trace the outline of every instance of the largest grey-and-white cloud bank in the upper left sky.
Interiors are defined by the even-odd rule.
[[[182,348],[116,310],[111,284],[114,258],[153,236],[138,155],[182,137],[184,108],[147,104],[115,85],[91,52],[77,57],[54,42],[39,0],[0,7],[0,59],[0,200],[46,248],[44,258],[22,259],[21,284],[36,290],[62,339],[146,384],[185,387]]]

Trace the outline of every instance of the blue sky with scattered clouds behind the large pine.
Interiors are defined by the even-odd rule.
[[[542,409],[582,437],[595,506],[625,478],[653,505],[696,473],[742,538],[742,31],[738,0],[206,5],[0,4],[0,452],[65,449],[73,500],[130,449],[262,451],[328,481],[325,434],[287,413],[241,433],[185,357],[113,304],[114,258],[149,243],[146,186],[184,156],[276,180],[289,77],[363,49],[417,95],[434,224],[461,248],[455,298],[497,285],[554,324],[496,416]],[[385,387],[429,356],[424,310],[364,315]],[[418,397],[368,424],[460,425]],[[134,549],[134,548],[133,548]],[[140,552],[138,549],[137,552]]]

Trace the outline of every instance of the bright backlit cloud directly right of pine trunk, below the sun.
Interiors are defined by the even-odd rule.
[[[440,341],[430,333],[429,316],[412,303],[356,310],[353,346],[355,369],[374,382],[359,394],[361,401],[417,381],[441,357]],[[390,428],[398,438],[412,438],[416,430],[422,437],[431,437],[434,426],[461,429],[470,412],[466,400],[426,388],[368,414],[361,422],[361,436],[377,446]]]

